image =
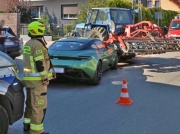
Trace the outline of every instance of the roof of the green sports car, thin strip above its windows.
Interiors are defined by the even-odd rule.
[[[87,38],[87,37],[67,37],[67,38],[61,38],[59,41],[79,41],[79,42],[90,42],[92,40],[99,40],[95,38]]]

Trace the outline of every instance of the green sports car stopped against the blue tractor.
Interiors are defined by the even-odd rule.
[[[67,76],[98,85],[103,71],[117,69],[118,56],[114,45],[104,46],[99,39],[62,38],[55,41],[48,52],[57,77]]]

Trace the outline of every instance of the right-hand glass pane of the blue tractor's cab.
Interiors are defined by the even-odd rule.
[[[121,23],[121,24],[131,24],[131,14],[129,10],[117,10],[112,9],[111,12],[111,20],[114,23]]]

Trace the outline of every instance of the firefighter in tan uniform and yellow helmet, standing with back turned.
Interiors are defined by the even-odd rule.
[[[47,85],[55,78],[52,64],[44,40],[45,27],[38,21],[28,25],[31,38],[23,48],[23,82],[27,91],[24,113],[24,131],[30,134],[48,134],[44,132],[43,120],[47,108]]]

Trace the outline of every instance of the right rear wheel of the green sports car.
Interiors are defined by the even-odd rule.
[[[99,85],[101,83],[101,77],[102,77],[102,65],[101,62],[98,62],[97,68],[95,71],[94,79],[92,80],[93,85]]]

